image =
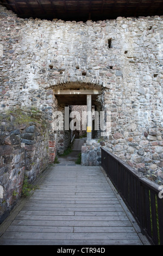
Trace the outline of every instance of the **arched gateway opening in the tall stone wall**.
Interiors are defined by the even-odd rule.
[[[97,113],[102,111],[102,86],[74,82],[59,84],[53,90],[57,100],[57,111],[61,113],[62,121],[61,129],[54,129],[57,154],[64,153],[74,136],[85,137],[86,140],[98,138],[99,118],[95,119]],[[58,115],[55,115],[54,123],[58,121]]]

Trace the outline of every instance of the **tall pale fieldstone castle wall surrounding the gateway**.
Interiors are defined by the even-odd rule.
[[[106,147],[162,182],[162,16],[47,21],[20,19],[4,7],[0,15],[1,112],[43,111],[54,159],[55,89],[102,87],[101,108],[111,115]]]

